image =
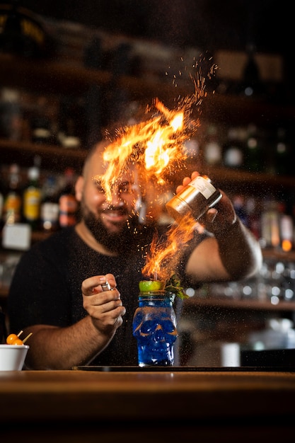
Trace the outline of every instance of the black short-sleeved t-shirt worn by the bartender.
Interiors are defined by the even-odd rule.
[[[8,319],[11,332],[35,324],[71,326],[87,315],[83,309],[81,284],[93,275],[115,275],[122,303],[126,308],[123,323],[110,345],[93,359],[98,365],[137,365],[137,343],[132,335],[132,318],[138,304],[139,281],[143,280],[146,247],[154,229],[141,226],[137,247],[110,257],[89,248],[74,227],[62,229],[25,252],[13,275],[8,294]],[[201,241],[195,238],[194,245]],[[183,276],[184,248],[178,275]],[[178,309],[179,311],[179,309]]]

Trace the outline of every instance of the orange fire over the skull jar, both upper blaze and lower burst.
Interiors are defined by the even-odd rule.
[[[215,68],[216,65],[212,65],[210,75]],[[199,127],[199,120],[192,120],[192,106],[199,105],[207,95],[204,78],[199,71],[191,79],[195,93],[180,100],[176,110],[169,110],[156,98],[154,117],[117,130],[116,139],[110,142],[103,153],[107,169],[100,180],[107,200],[111,198],[111,189],[116,180],[132,166],[136,165],[141,189],[144,190],[145,185],[152,185],[158,192],[157,197],[163,194],[167,186],[166,178],[185,168],[185,142]],[[143,275],[166,280],[178,263],[180,248],[185,247],[192,238],[196,226],[195,219],[185,217],[183,222],[170,227],[167,241],[155,237],[151,253],[146,257]]]

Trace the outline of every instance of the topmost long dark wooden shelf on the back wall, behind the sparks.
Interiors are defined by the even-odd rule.
[[[194,84],[175,87],[165,78],[161,81],[134,76],[114,77],[109,71],[88,69],[79,64],[57,62],[52,59],[33,60],[12,54],[0,54],[0,81],[3,86],[16,85],[33,91],[79,96],[88,88],[116,84],[129,91],[132,98],[151,104],[153,98],[164,100],[166,105],[178,103],[179,98],[192,96]],[[284,103],[269,103],[229,94],[221,95],[208,91],[202,103],[196,106],[197,113],[219,122],[256,122],[271,124],[273,121],[293,121],[294,106]],[[199,115],[198,115],[199,116]]]

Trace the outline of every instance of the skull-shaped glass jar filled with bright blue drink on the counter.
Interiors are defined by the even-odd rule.
[[[140,367],[174,364],[174,344],[178,336],[174,298],[175,294],[165,290],[139,293],[132,330],[137,338]]]

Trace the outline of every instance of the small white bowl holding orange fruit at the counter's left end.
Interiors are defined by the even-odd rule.
[[[28,345],[0,345],[0,371],[21,371]]]

